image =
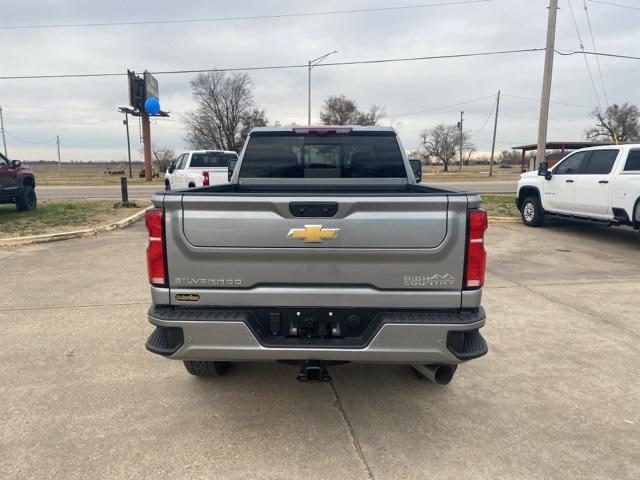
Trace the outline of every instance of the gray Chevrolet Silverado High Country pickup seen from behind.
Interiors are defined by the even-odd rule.
[[[256,128],[230,183],[152,200],[146,347],[193,375],[367,362],[446,384],[487,352],[486,212],[417,183],[391,128]]]

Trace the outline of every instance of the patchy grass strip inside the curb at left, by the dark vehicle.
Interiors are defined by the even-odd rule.
[[[59,233],[98,227],[122,220],[149,205],[137,201],[138,208],[120,208],[114,200],[41,200],[38,208],[18,212],[15,205],[0,205],[0,238]]]

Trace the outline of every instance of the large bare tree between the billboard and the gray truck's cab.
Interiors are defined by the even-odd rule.
[[[192,148],[239,151],[253,127],[267,124],[246,73],[201,73],[191,81],[191,90],[197,108],[187,112],[184,122],[185,141]]]

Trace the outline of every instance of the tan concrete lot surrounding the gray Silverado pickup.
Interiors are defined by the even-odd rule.
[[[640,238],[491,225],[490,353],[448,387],[401,366],[331,384],[147,353],[140,224],[0,250],[7,479],[640,478]]]

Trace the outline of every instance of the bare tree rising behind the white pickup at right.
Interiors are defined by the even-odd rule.
[[[635,105],[624,103],[607,107],[602,112],[596,108],[591,112],[596,124],[585,131],[589,140],[609,141],[617,138],[620,142],[640,140],[640,110]]]

